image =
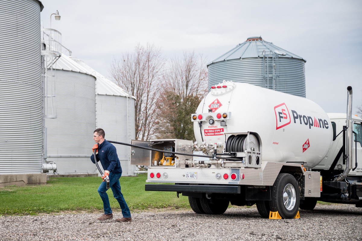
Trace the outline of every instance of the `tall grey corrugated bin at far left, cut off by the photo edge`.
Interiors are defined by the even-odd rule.
[[[0,1],[0,174],[42,171],[42,9],[35,0]]]

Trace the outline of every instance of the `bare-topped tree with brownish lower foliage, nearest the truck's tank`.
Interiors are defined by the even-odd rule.
[[[157,102],[158,138],[194,139],[191,113],[207,92],[207,69],[202,55],[184,52],[169,62],[165,88]]]

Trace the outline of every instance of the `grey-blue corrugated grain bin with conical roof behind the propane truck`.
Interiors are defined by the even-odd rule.
[[[207,65],[208,87],[232,80],[306,97],[305,62],[261,37],[250,37]]]

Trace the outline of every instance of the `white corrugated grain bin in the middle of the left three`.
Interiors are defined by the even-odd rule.
[[[98,173],[89,158],[96,128],[96,78],[64,54],[48,74],[54,75],[56,118],[45,119],[47,162],[56,162],[58,174]]]

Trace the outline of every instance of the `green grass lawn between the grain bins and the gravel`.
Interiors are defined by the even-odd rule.
[[[145,191],[147,174],[121,177],[123,196],[131,210],[190,207],[187,196],[175,192]],[[97,192],[100,177],[50,177],[46,185],[0,187],[0,215],[36,215],[64,211],[103,211]],[[111,189],[111,208],[120,211]]]

